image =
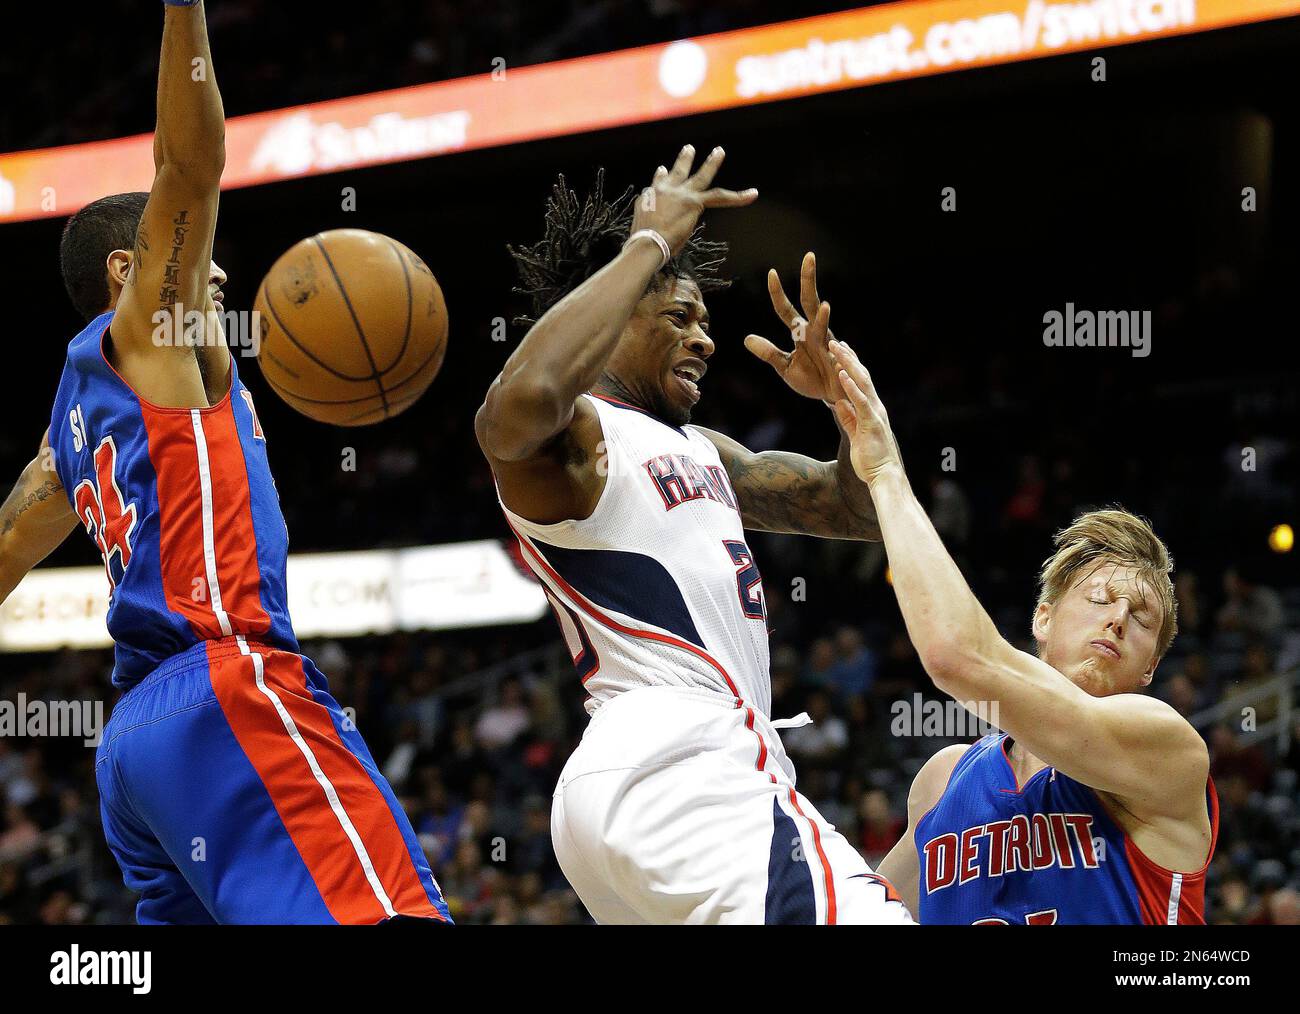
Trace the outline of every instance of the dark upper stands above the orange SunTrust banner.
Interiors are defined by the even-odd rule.
[[[803,0],[370,0],[334,17],[268,0],[208,5],[208,32],[228,116],[422,84],[506,66],[564,60],[871,3]],[[161,4],[113,0],[78,10],[42,58],[68,73],[32,73],[13,23],[0,43],[0,151],[42,148],[153,129]],[[248,53],[273,58],[247,58]],[[328,73],[321,69],[328,68]]]

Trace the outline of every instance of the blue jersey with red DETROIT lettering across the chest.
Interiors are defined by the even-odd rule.
[[[1087,785],[1056,768],[1018,785],[1005,734],[972,744],[918,823],[920,922],[1176,924],[1205,922],[1205,867],[1148,859]],[[1205,786],[1210,854],[1218,798]]]

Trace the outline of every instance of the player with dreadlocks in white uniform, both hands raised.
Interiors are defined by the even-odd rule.
[[[705,208],[715,148],[681,150],[640,196],[580,202],[511,250],[537,316],[474,429],[524,558],[555,608],[592,722],[555,789],[555,854],[601,923],[906,923],[888,881],[794,788],[768,716],[767,615],[745,529],[879,540],[849,460],[754,454],[689,425],[714,352],[703,294],[725,282]],[[803,260],[793,348],[746,347],[798,394],[841,396],[831,308]],[[806,716],[801,716],[806,722]]]

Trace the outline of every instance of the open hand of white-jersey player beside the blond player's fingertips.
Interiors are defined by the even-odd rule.
[[[836,378],[838,367],[827,347],[827,343],[833,339],[831,304],[823,303],[816,294],[816,256],[811,252],[805,254],[803,265],[800,269],[802,315],[786,298],[776,268],[767,272],[767,294],[772,298],[772,309],[776,311],[776,316],[790,329],[790,341],[794,347],[789,352],[783,352],[758,334],[748,335],[745,347],[775,369],[783,381],[805,398],[820,398],[828,406],[844,398],[840,381]]]

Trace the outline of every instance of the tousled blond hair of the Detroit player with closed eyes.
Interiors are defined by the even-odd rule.
[[[1052,538],[1053,552],[1039,575],[1039,604],[1053,604],[1084,573],[1105,563],[1138,568],[1138,577],[1154,589],[1162,607],[1157,658],[1169,651],[1178,633],[1178,599],[1174,598],[1174,558],[1160,541],[1150,521],[1122,507],[1080,514],[1069,528]]]

